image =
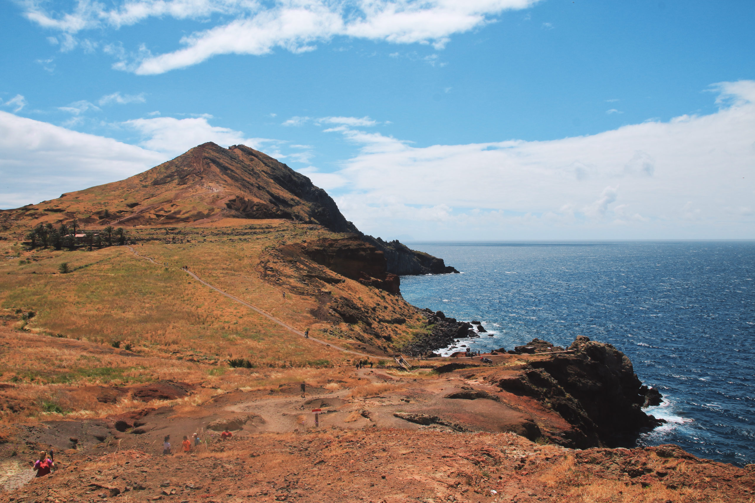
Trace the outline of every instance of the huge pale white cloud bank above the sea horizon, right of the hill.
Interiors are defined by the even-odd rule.
[[[337,202],[364,232],[417,238],[755,238],[755,82],[716,85],[719,112],[563,140],[417,147],[333,128],[361,149],[334,173]]]

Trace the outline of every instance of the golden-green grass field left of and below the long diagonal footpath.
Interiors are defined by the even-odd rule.
[[[34,311],[27,330],[184,358],[244,357],[260,367],[322,366],[343,357],[198,284],[175,261],[162,268],[124,247],[23,254],[32,262],[0,264],[0,306]],[[74,271],[54,274],[63,261]]]

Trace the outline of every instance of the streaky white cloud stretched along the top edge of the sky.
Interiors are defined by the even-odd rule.
[[[63,14],[46,9],[42,0],[26,0],[24,16],[46,29],[61,32],[61,51],[79,44],[72,35],[88,29],[133,25],[148,17],[210,20],[212,14],[230,22],[183,37],[185,47],[153,56],[131,55],[117,69],[141,75],[195,65],[217,54],[268,54],[274,48],[294,53],[313,51],[334,37],[362,38],[394,44],[432,44],[442,49],[451,35],[495,22],[510,9],[527,8],[538,0],[125,0],[108,8],[102,2],[77,0]],[[56,39],[57,40],[57,39]]]

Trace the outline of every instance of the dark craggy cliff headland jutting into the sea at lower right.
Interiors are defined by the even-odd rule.
[[[578,336],[570,350],[532,358],[516,373],[490,373],[485,379],[511,394],[535,398],[569,422],[574,429],[559,440],[565,445],[620,445],[664,423],[642,410],[646,403],[657,403],[660,394],[643,386],[624,353],[585,336]]]

